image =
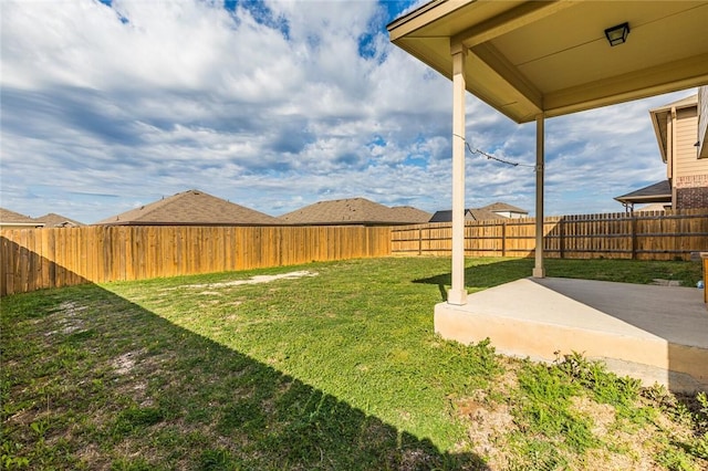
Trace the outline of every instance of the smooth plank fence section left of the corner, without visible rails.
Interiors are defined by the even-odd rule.
[[[391,254],[387,227],[154,227],[0,231],[0,295]]]

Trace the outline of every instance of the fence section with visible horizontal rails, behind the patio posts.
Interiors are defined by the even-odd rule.
[[[449,222],[392,228],[392,253],[449,255],[451,232]],[[530,257],[534,249],[534,218],[465,224],[468,257]],[[562,259],[688,260],[708,251],[708,208],[544,218],[543,250]]]

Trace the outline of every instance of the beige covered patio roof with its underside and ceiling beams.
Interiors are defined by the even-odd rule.
[[[604,31],[628,22],[624,44]],[[708,84],[708,1],[435,0],[391,41],[517,123]]]

